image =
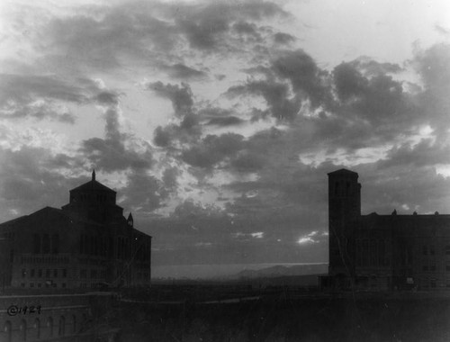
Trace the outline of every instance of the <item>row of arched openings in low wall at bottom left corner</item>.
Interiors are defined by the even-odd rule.
[[[82,317],[81,324],[85,324],[87,321],[87,317],[85,313]],[[72,315],[70,326],[68,327],[70,331],[66,331],[67,322],[65,316],[60,316],[58,321],[58,337],[62,337],[68,334],[76,334],[76,315]],[[45,323],[42,325],[42,322],[39,318],[35,319],[31,327],[27,327],[27,321],[22,320],[19,325],[20,338],[23,341],[26,341],[27,338],[31,338],[31,340],[36,340],[40,338],[54,338],[56,337],[57,332],[54,329],[53,318],[49,317],[45,320]],[[12,342],[13,341],[13,324],[11,321],[7,320],[4,323],[3,327],[3,335],[4,338],[2,341]],[[14,338],[16,340],[16,338]]]

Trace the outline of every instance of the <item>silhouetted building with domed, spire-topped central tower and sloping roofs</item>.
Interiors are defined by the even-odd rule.
[[[116,193],[95,180],[46,207],[0,224],[0,286],[95,288],[150,284],[151,237],[133,227]]]

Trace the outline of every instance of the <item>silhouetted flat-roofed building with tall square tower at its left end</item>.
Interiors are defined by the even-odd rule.
[[[329,173],[329,276],[356,290],[450,290],[450,215],[361,215],[358,174]]]

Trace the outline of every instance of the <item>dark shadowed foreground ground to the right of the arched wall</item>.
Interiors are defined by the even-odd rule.
[[[444,342],[450,296],[279,292],[241,302],[119,302],[106,319],[123,342]]]

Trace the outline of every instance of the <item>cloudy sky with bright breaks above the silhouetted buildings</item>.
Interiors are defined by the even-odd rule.
[[[117,191],[153,264],[328,261],[362,211],[450,212],[446,0],[0,0],[0,221]]]

